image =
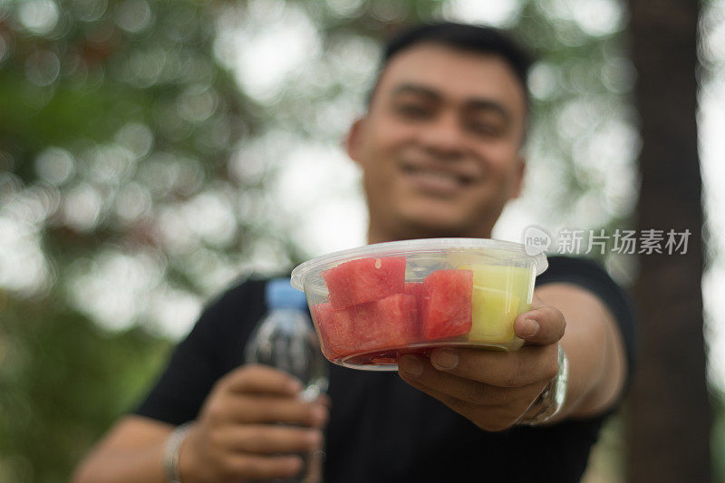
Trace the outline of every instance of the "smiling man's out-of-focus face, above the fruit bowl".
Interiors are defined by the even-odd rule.
[[[396,54],[353,125],[371,242],[488,237],[523,175],[526,101],[495,55],[420,43]]]

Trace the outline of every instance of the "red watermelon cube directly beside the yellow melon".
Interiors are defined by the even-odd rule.
[[[469,333],[473,294],[471,270],[436,270],[423,280],[422,336],[427,340]]]

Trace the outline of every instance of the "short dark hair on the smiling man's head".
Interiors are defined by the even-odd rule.
[[[497,28],[483,25],[456,24],[454,22],[420,24],[392,37],[385,45],[375,83],[368,94],[368,105],[372,101],[372,96],[378,82],[380,82],[382,72],[391,59],[397,53],[418,43],[438,43],[463,51],[497,55],[511,67],[511,70],[521,82],[524,98],[528,106],[527,75],[534,60],[531,54],[514,42],[505,32]]]

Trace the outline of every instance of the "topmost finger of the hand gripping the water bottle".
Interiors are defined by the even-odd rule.
[[[244,365],[220,381],[228,391],[292,396],[302,391],[302,383],[290,374],[266,365]]]

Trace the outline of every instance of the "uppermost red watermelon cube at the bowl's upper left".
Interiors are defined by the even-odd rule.
[[[405,257],[360,258],[322,273],[334,309],[374,302],[401,294],[405,284]]]

